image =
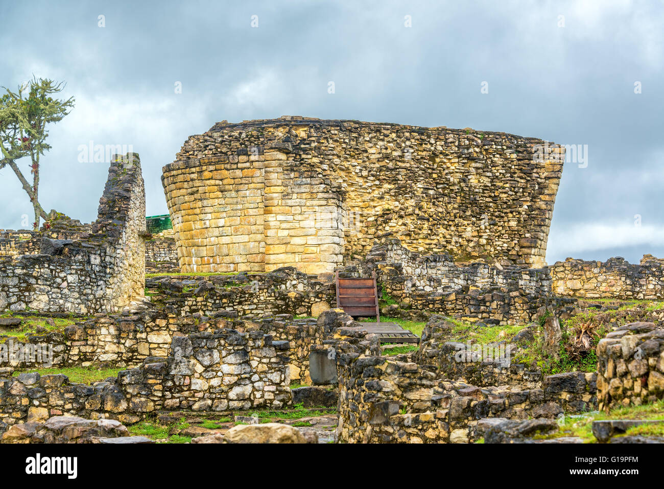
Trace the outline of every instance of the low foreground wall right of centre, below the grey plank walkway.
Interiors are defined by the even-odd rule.
[[[438,380],[417,363],[341,355],[337,440],[472,442],[482,436],[476,427],[485,417],[553,418],[593,409],[594,377],[573,372],[546,377],[536,389],[482,389]]]

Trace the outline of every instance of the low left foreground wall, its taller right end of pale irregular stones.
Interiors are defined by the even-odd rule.
[[[168,357],[147,357],[140,367],[94,386],[65,375],[24,373],[0,379],[0,421],[41,417],[109,417],[135,423],[154,411],[227,411],[280,408],[291,403],[288,343],[262,332],[220,329],[177,336]]]

